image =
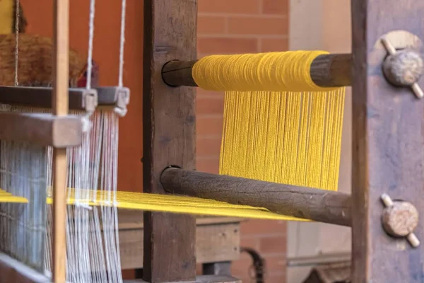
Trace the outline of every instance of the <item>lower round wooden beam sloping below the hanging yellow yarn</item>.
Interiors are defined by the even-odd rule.
[[[264,207],[302,219],[351,226],[351,195],[259,180],[167,168],[160,176],[167,192],[231,204]]]

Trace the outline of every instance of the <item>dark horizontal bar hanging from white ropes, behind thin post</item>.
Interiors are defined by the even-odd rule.
[[[52,108],[52,88],[0,86],[0,103],[34,108]],[[129,88],[116,86],[93,89],[69,88],[69,109],[93,112],[97,107],[115,107],[126,112]]]

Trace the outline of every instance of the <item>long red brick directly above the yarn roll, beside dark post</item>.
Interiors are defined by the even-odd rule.
[[[199,37],[198,50],[201,53],[230,54],[258,51],[257,38]]]

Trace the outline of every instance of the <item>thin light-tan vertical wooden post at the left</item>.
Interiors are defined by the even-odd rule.
[[[54,1],[52,110],[68,114],[69,0]],[[53,149],[53,282],[66,277],[66,149]]]

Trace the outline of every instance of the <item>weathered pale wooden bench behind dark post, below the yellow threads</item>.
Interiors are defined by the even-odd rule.
[[[143,267],[142,212],[119,209],[119,250],[124,270]],[[196,261],[210,263],[240,258],[240,221],[231,217],[196,218]]]

